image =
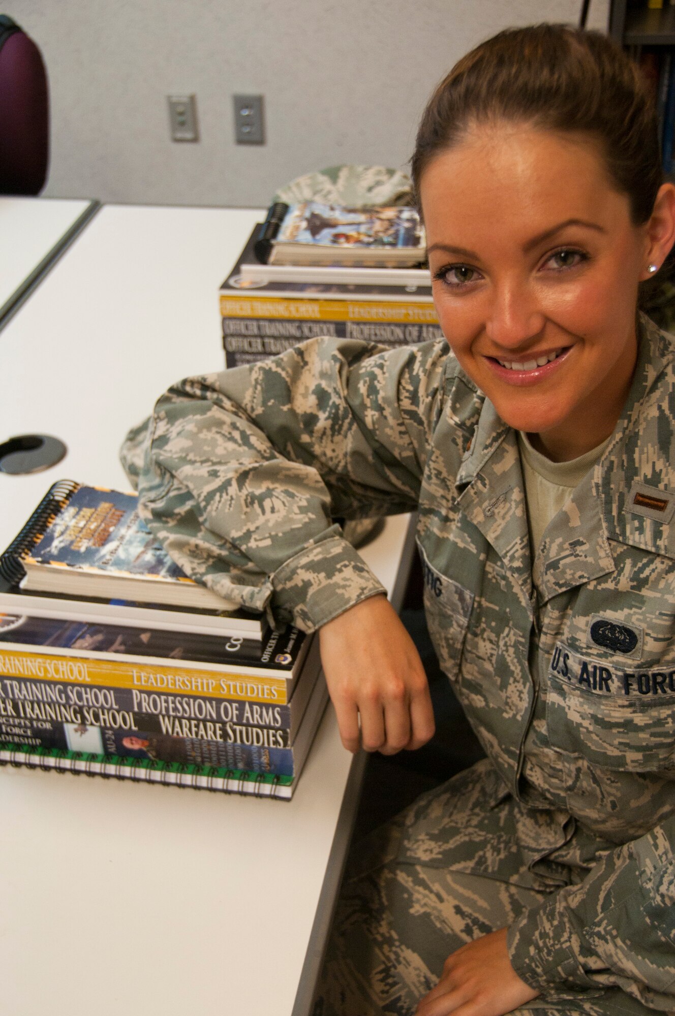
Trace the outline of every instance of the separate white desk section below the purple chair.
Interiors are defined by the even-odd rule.
[[[98,207],[98,201],[0,197],[0,327]]]

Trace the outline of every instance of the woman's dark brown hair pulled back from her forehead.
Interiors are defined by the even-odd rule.
[[[411,160],[420,205],[425,169],[473,127],[506,121],[584,132],[601,146],[633,225],[663,183],[654,102],[637,66],[599,31],[563,24],[507,28],[464,56],[429,100]]]

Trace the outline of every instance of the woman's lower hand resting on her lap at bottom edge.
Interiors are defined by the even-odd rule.
[[[442,977],[420,1002],[417,1016],[504,1016],[538,995],[511,966],[502,928],[447,957]]]

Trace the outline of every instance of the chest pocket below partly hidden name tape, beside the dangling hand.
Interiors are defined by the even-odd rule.
[[[424,574],[424,611],[441,670],[454,681],[469,626],[474,594],[429,564],[418,543]]]

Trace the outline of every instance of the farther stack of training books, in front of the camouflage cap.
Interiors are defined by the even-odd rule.
[[[226,365],[317,335],[385,346],[442,335],[414,208],[273,204],[221,287]]]

